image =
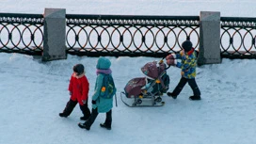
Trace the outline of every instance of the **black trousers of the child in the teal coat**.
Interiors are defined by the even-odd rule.
[[[98,116],[98,109],[95,108],[91,110],[91,115],[89,117],[89,119],[85,122],[85,124],[90,127],[94,120],[96,120],[97,116]],[[108,112],[105,113],[105,120],[104,120],[104,124],[107,127],[111,127],[111,123],[112,123],[112,110],[110,109]]]

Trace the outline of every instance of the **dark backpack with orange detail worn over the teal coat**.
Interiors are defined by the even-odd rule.
[[[104,99],[111,99],[116,94],[117,88],[113,77],[110,74],[104,74],[103,87],[100,96]]]

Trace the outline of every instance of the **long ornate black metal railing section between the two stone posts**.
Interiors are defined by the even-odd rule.
[[[199,16],[66,15],[68,53],[166,56],[185,39],[199,47]]]

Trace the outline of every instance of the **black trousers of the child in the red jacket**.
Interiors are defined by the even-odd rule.
[[[77,104],[77,101],[72,101],[72,99],[70,99],[70,101],[66,104],[65,109],[63,110],[63,113],[67,116],[70,116],[72,113],[73,108],[75,107],[75,105]],[[90,111],[88,109],[88,101],[86,104],[81,105],[79,104],[79,107],[82,111],[82,113],[84,114],[84,117],[89,117],[90,116]]]

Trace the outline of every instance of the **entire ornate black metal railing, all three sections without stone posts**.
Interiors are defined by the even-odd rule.
[[[166,56],[200,44],[199,16],[67,14],[66,45],[79,56]],[[43,15],[0,13],[0,52],[41,55]],[[256,58],[256,18],[221,17],[222,57]]]

